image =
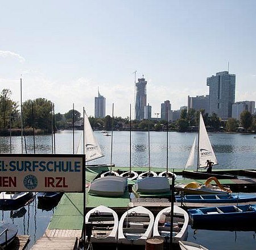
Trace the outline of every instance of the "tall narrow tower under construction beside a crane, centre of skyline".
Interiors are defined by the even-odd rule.
[[[136,82],[136,103],[135,103],[135,119],[142,120],[144,118],[144,106],[147,105],[147,81],[144,76],[138,78]]]

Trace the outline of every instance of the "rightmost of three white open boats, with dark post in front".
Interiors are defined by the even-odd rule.
[[[174,206],[174,224],[172,227],[172,243],[178,244],[180,240],[188,237],[188,213],[178,206]],[[156,215],[153,237],[166,239],[170,243],[171,207],[166,207]]]

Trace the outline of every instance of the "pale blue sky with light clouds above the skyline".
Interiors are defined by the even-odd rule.
[[[55,113],[106,115],[134,109],[134,71],[147,81],[152,116],[170,100],[206,95],[207,77],[236,74],[236,101],[256,101],[256,1],[55,0],[2,1],[0,91],[20,103],[39,97]],[[133,113],[133,112],[132,112]]]

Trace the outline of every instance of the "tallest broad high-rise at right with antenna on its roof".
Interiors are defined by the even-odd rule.
[[[235,101],[236,75],[228,71],[218,72],[207,78],[209,86],[209,115],[215,113],[227,120],[232,117],[232,104]]]

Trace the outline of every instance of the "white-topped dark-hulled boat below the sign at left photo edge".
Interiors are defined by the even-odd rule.
[[[0,193],[0,208],[18,206],[29,201],[34,194],[32,192],[1,192]]]

